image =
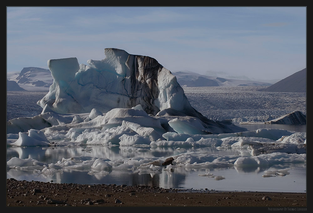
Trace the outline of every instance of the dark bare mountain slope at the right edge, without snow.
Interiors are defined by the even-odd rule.
[[[262,90],[264,92],[290,92],[305,93],[306,92],[306,68],[288,76],[285,79],[273,84],[272,86]]]

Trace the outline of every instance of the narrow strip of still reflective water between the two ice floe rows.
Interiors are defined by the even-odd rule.
[[[33,158],[44,163],[56,163],[62,158],[75,156],[90,156],[108,158],[109,160],[126,159],[133,157],[151,158],[179,155],[186,152],[197,152],[218,155],[239,155],[239,150],[217,150],[215,147],[177,149],[172,147],[135,148],[129,146],[72,146],[72,147],[8,147],[7,161],[12,157],[21,159]],[[249,152],[247,152],[249,153]]]

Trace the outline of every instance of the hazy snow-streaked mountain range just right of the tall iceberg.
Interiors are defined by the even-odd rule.
[[[193,72],[175,72],[172,73],[176,76],[177,82],[181,86],[187,87],[234,87],[234,86],[270,86],[272,84],[249,81],[249,80],[237,80],[237,79],[225,79],[207,75],[200,75]]]

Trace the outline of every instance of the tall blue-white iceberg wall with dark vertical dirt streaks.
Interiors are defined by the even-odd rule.
[[[168,108],[185,114],[194,111],[176,77],[156,59],[116,48],[106,48],[105,56],[88,60],[88,65],[79,65],[77,58],[49,60],[54,83],[38,104],[57,113],[87,113],[94,108],[106,113],[139,104],[153,115]]]

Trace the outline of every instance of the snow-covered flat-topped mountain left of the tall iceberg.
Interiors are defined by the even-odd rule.
[[[15,81],[25,90],[49,90],[53,78],[49,69],[25,67],[18,73],[8,73],[7,79]]]

